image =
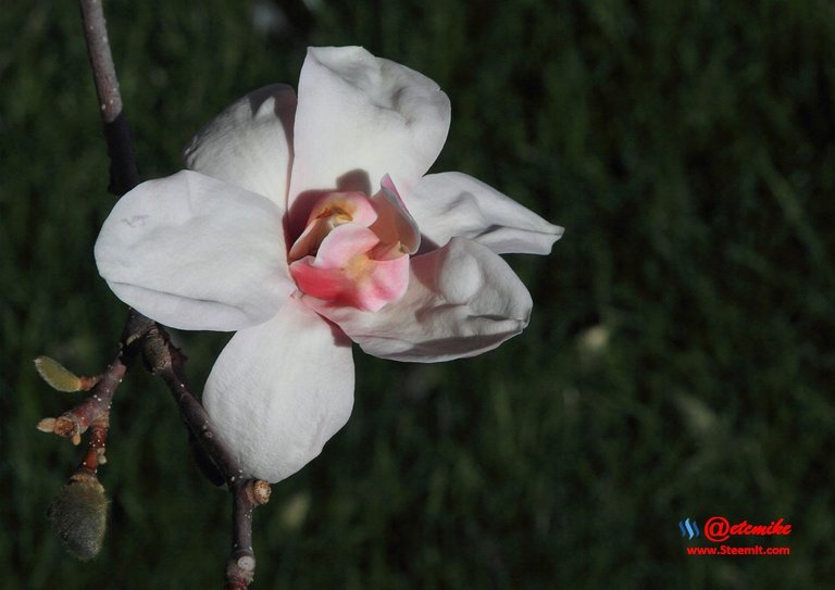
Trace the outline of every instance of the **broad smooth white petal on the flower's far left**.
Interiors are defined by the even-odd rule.
[[[122,197],[95,253],[116,297],[174,328],[253,326],[295,290],[279,209],[190,171]]]

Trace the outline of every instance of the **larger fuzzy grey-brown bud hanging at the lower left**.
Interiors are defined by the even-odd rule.
[[[108,498],[98,478],[86,470],[75,473],[47,513],[70,552],[86,562],[101,551],[108,516]]]

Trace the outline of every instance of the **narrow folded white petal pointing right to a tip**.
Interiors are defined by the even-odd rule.
[[[406,204],[423,237],[435,246],[459,237],[483,243],[498,254],[547,254],[562,237],[562,227],[459,172],[424,176]],[[424,244],[424,249],[426,246],[432,244]]]

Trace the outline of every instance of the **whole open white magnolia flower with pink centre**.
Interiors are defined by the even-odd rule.
[[[361,48],[310,49],[283,85],[221,113],[188,168],[125,194],[96,262],[115,294],[180,329],[234,330],[203,404],[246,475],[315,457],[353,403],[351,341],[447,361],[527,325],[531,296],[499,256],[546,254],[562,228],[460,173],[425,175],[447,96]]]

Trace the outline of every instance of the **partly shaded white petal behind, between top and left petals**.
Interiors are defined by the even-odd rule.
[[[189,168],[263,194],[284,211],[292,161],[296,93],[283,84],[250,92],[186,148]]]

